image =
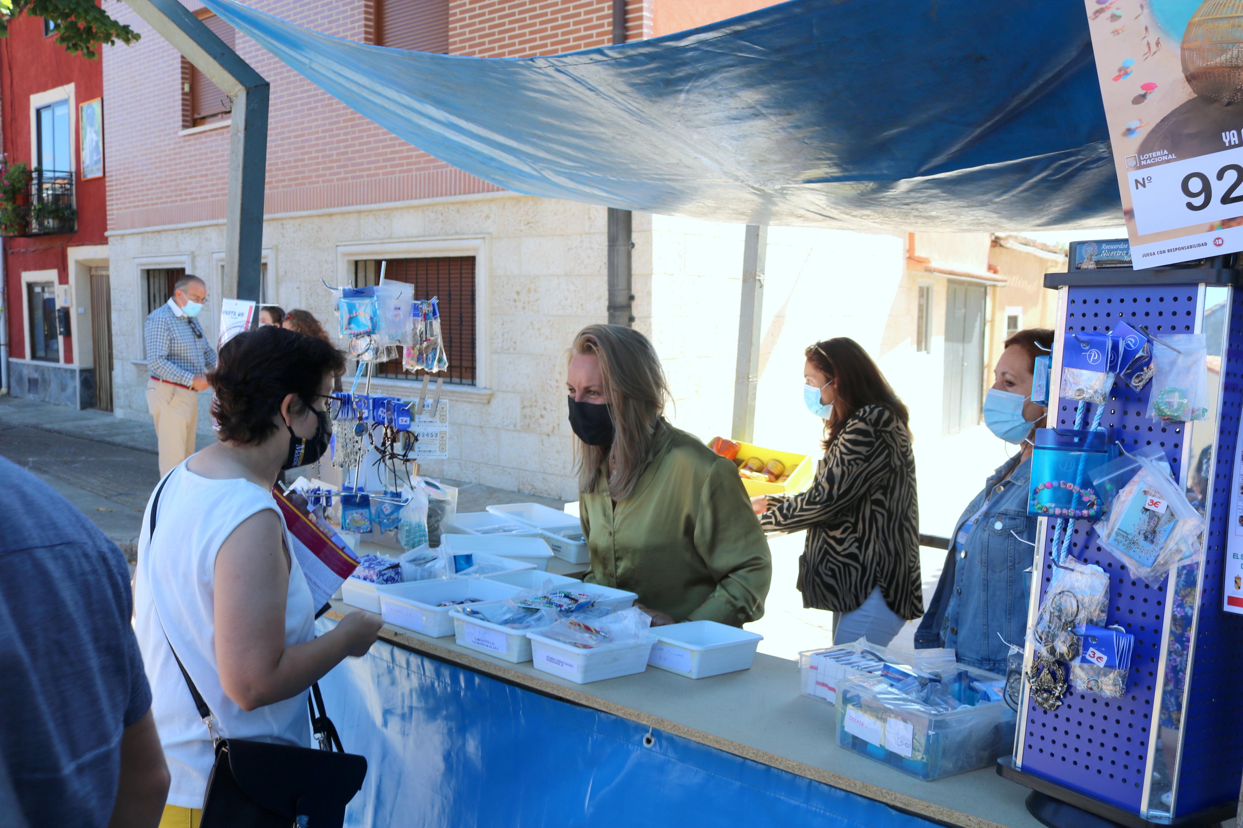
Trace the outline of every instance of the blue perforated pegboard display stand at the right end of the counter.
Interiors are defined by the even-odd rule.
[[[1207,326],[1207,314],[1218,314],[1222,322],[1228,314],[1231,320],[1233,348],[1223,354],[1224,331],[1219,325],[1216,350],[1212,341],[1208,349],[1211,359],[1216,354],[1221,360],[1218,371],[1226,372],[1227,391],[1219,421],[1187,426],[1151,420],[1146,415],[1151,382],[1141,391],[1125,384],[1115,385],[1100,421],[1101,426],[1122,431],[1127,449],[1160,446],[1175,477],[1188,489],[1188,497],[1193,497],[1192,489],[1198,485],[1195,497],[1202,500],[1207,495],[1207,475],[1188,479],[1183,466],[1195,472],[1196,466],[1202,464],[1207,470],[1213,457],[1213,438],[1218,438],[1219,432],[1217,442],[1222,448],[1212,475],[1217,497],[1212,499],[1203,565],[1209,577],[1201,587],[1201,565],[1190,564],[1171,574],[1162,585],[1149,586],[1100,547],[1089,521],[1076,521],[1070,554],[1080,561],[1096,564],[1109,575],[1109,623],[1122,624],[1136,639],[1130,686],[1120,699],[1070,689],[1063,705],[1054,711],[1029,703],[1022,722],[1021,755],[1016,757],[1025,773],[1042,776],[1137,816],[1177,817],[1237,797],[1243,763],[1239,740],[1223,735],[1224,729],[1234,729],[1232,711],[1238,710],[1237,680],[1243,678],[1243,672],[1236,654],[1241,626],[1236,622],[1243,618],[1226,617],[1221,611],[1219,583],[1224,554],[1222,529],[1229,499],[1226,490],[1231,487],[1239,425],[1241,303],[1236,299],[1232,308],[1227,307],[1231,293],[1227,288],[1204,292],[1195,284],[1070,287],[1065,290],[1065,319],[1059,331],[1064,338],[1080,331],[1106,333],[1120,322],[1135,328],[1142,325],[1158,338],[1195,333],[1201,313],[1206,313],[1203,330],[1212,339],[1214,334]],[[1201,303],[1208,307],[1201,308]],[[1211,396],[1216,397],[1219,376],[1209,374]],[[1052,425],[1073,428],[1075,406],[1074,400],[1060,398],[1050,411],[1054,415]],[[1095,407],[1089,406],[1084,422],[1090,422],[1094,413]],[[1211,420],[1217,416],[1214,407]],[[1042,600],[1053,575],[1053,535],[1050,521],[1043,554],[1038,557]],[[1197,608],[1198,627],[1195,623]],[[1182,669],[1187,664],[1193,668],[1190,674]],[[1223,704],[1227,698],[1231,701]],[[1181,775],[1177,770],[1180,741]],[[1145,814],[1141,806],[1146,783],[1150,787]]]

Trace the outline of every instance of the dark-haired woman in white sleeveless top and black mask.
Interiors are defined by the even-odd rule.
[[[169,473],[154,536],[147,505],[134,605],[173,777],[162,826],[198,824],[214,762],[170,644],[222,737],[310,747],[308,688],[379,632],[379,616],[353,612],[314,637],[316,607],[271,494],[282,469],[327,449],[324,403],[343,369],[332,345],[282,328],[231,339],[208,377],[220,442]]]

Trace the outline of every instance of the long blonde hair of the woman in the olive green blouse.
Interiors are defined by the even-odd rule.
[[[613,417],[613,446],[588,446],[574,438],[578,490],[594,492],[600,469],[608,463],[613,469],[609,495],[625,500],[639,482],[656,425],[665,413],[669,398],[665,370],[648,338],[622,325],[583,328],[574,336],[567,365],[582,354],[592,354],[599,362],[602,391]]]

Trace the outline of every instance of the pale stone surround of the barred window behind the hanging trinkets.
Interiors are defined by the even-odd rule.
[[[491,237],[444,236],[384,242],[344,242],[337,245],[337,284],[354,283],[354,262],[384,258],[439,258],[472,256],[475,258],[475,385],[445,385],[445,400],[487,402],[492,398],[492,329],[491,329]],[[314,287],[312,286],[313,290]],[[324,320],[327,326],[332,320]],[[410,396],[421,380],[375,380],[387,394]]]

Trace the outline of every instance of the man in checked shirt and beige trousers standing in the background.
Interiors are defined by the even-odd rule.
[[[203,335],[195,317],[208,300],[208,286],[186,273],[177,281],[173,297],[147,317],[147,410],[155,421],[159,473],[168,472],[194,453],[199,422],[199,391],[208,390],[204,375],[216,365],[216,351]]]

